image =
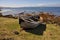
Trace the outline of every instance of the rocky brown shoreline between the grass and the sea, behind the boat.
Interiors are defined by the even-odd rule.
[[[2,15],[2,13],[0,13],[0,17],[7,17],[7,18],[14,18],[14,19],[18,19],[19,15],[21,14],[25,14],[28,16],[38,16],[38,17],[42,17],[43,21],[46,23],[51,23],[51,24],[59,24],[60,25],[60,16],[56,16],[54,14],[50,14],[48,12],[39,12],[39,13],[19,13],[19,14],[15,14],[14,16],[12,14],[9,15]],[[39,19],[38,19],[39,20]]]

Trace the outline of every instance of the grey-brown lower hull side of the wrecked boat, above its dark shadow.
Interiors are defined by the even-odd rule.
[[[35,28],[39,24],[39,22],[22,22],[20,25],[22,28]]]

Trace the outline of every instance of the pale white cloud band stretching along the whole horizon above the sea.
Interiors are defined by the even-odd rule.
[[[60,7],[60,4],[56,3],[37,3],[37,4],[0,4],[3,7]]]

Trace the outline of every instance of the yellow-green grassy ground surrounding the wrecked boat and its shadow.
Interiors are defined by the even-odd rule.
[[[19,32],[16,35],[14,32]],[[20,32],[20,25],[18,19],[3,18],[0,17],[0,39],[11,39],[11,40],[60,40],[60,26],[54,24],[46,24],[46,31],[43,35],[38,35],[38,29],[30,30],[34,31],[27,32],[23,30]]]

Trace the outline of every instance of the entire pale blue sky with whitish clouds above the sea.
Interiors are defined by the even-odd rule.
[[[0,0],[2,7],[60,7],[60,0]]]

